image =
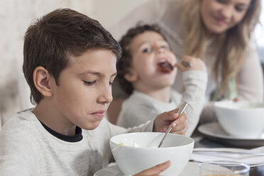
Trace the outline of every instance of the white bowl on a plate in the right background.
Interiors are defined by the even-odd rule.
[[[226,133],[238,138],[260,138],[264,129],[264,104],[248,101],[217,101],[217,119]]]

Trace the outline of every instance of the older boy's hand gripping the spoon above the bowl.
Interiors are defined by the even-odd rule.
[[[158,115],[154,120],[154,132],[166,132],[169,128],[170,123],[172,123],[172,130],[170,133],[177,133],[180,135],[185,135],[187,131],[187,116],[185,112],[181,115],[177,114],[179,109],[174,109],[172,111],[163,112],[163,114]]]

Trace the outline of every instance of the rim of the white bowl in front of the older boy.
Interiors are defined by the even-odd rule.
[[[113,141],[112,141],[112,139],[114,138],[114,137],[116,137],[116,136],[122,136],[122,135],[133,135],[133,134],[138,134],[138,133],[147,133],[147,134],[160,134],[160,133],[163,133],[163,132],[132,132],[132,133],[120,133],[120,134],[118,134],[118,135],[115,135],[115,136],[112,136],[111,138],[110,138],[110,140],[109,140],[109,143],[114,143]],[[163,133],[163,134],[165,134],[165,133]],[[158,146],[157,146],[157,148],[158,148],[158,150],[167,150],[167,149],[172,149],[172,148],[183,148],[183,147],[185,147],[185,146],[187,146],[187,145],[194,145],[194,139],[193,138],[191,138],[191,137],[189,137],[189,136],[183,136],[183,135],[180,135],[180,134],[175,134],[175,133],[169,133],[168,135],[173,135],[173,136],[182,136],[182,137],[184,137],[184,138],[187,138],[187,139],[189,139],[190,140],[190,142],[189,143],[187,143],[187,144],[185,144],[185,145],[179,145],[179,146],[175,146],[175,147],[166,147],[166,148],[158,148]],[[114,143],[114,144],[116,144],[116,145],[118,145],[117,143]],[[143,150],[157,150],[157,148],[148,148],[148,147],[134,147],[134,146],[131,146],[131,145],[123,145],[124,147],[126,147],[126,148],[141,148],[141,149],[143,149]],[[112,149],[111,149],[112,150]]]

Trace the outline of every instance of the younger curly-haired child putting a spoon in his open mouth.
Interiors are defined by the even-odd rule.
[[[184,57],[182,62],[188,63],[187,67],[176,63],[176,57],[157,25],[131,28],[119,43],[123,55],[116,66],[119,73],[117,80],[129,97],[123,102],[117,125],[126,128],[136,126],[163,111],[170,111],[188,102],[186,135],[191,136],[204,104],[207,86],[204,62]],[[176,65],[183,72],[183,94],[171,89],[177,69],[172,67],[173,70],[161,70],[160,65],[164,62]]]

